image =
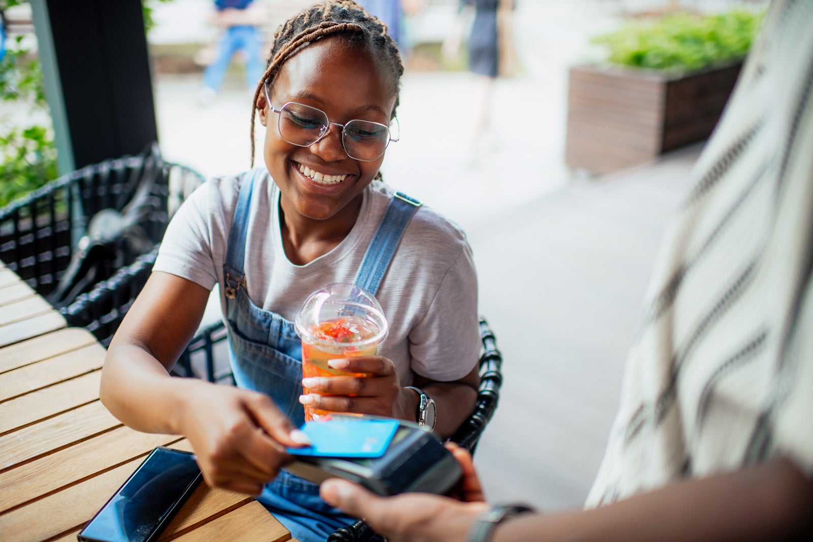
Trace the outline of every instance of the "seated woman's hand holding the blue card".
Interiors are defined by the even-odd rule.
[[[288,446],[308,444],[262,393],[195,381],[180,413],[179,432],[198,456],[211,488],[259,495],[292,457]]]

